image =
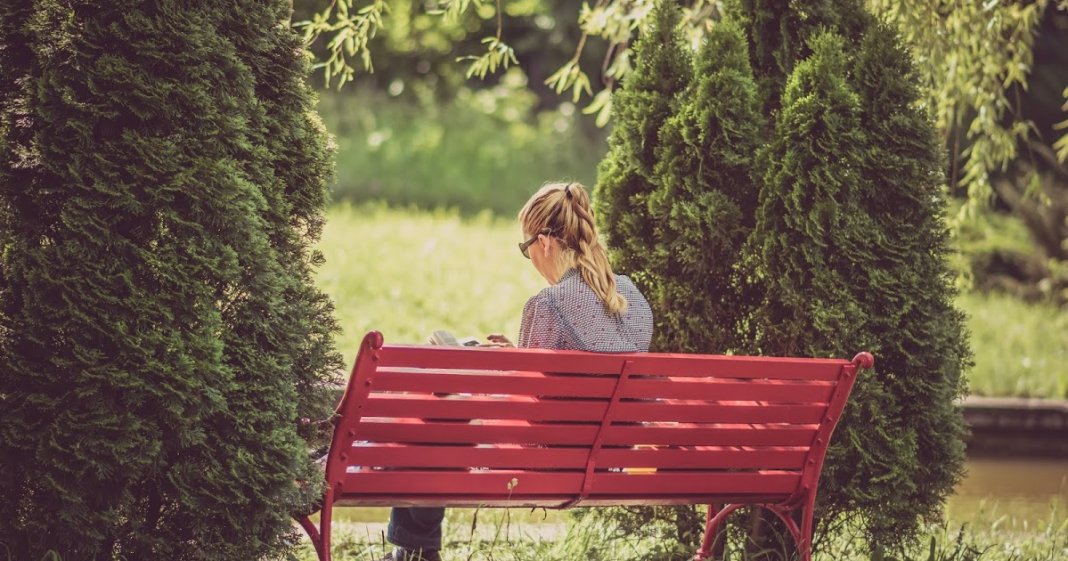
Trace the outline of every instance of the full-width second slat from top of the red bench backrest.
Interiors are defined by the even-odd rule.
[[[500,393],[521,395],[565,395],[570,398],[604,398],[615,386],[612,375],[560,376],[540,372],[499,371],[430,371],[391,369],[376,373],[372,383],[375,391],[422,391],[462,393]],[[764,380],[741,383],[692,377],[631,378],[624,388],[623,399],[694,399],[750,400],[761,402],[811,403],[827,402],[834,384],[827,381]]]

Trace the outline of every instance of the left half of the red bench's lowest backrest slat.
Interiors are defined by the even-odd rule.
[[[508,497],[509,495],[577,495],[583,473],[529,471],[359,471],[346,473],[342,494],[452,495]],[[513,483],[513,481],[515,481]],[[512,487],[511,489],[508,487]]]

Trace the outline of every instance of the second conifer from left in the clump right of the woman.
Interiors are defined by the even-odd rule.
[[[674,353],[738,352],[748,302],[740,248],[753,227],[750,176],[764,130],[744,33],[720,21],[694,57],[693,81],[661,129],[646,297],[654,347]],[[695,295],[701,295],[695,297]]]

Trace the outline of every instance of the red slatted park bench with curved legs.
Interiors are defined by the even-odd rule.
[[[329,561],[334,505],[707,503],[703,560],[731,512],[760,504],[808,561],[828,441],[873,362],[386,346],[371,332],[337,407],[319,527],[300,523]]]

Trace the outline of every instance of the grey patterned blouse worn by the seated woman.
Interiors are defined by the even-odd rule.
[[[653,338],[649,303],[626,276],[616,275],[615,283],[627,299],[627,311],[623,314],[609,313],[582,275],[568,269],[560,282],[527,300],[518,346],[594,353],[648,352]]]

